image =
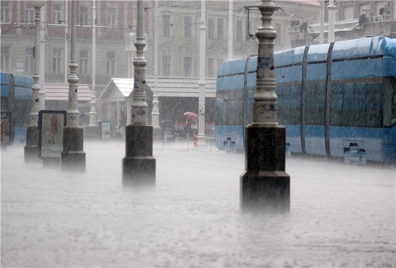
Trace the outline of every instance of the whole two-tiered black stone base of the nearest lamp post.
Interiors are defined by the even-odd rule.
[[[240,180],[242,210],[290,211],[285,134],[281,125],[250,124],[245,128],[246,171]]]

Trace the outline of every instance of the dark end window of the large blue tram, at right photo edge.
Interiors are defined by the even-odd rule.
[[[388,127],[396,123],[396,79],[385,79],[384,89],[383,118],[384,127]]]

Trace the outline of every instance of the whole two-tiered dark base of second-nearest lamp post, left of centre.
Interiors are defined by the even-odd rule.
[[[125,127],[125,154],[122,159],[124,186],[155,186],[155,158],[152,156],[150,125]]]

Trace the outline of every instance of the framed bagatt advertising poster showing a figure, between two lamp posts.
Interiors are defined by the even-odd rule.
[[[40,111],[39,156],[60,157],[63,150],[63,127],[65,125],[66,111]]]

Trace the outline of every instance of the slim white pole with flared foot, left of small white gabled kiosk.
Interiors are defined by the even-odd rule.
[[[96,26],[96,5],[92,0],[92,24]],[[92,27],[92,95],[90,110],[90,126],[98,126],[98,112],[96,109],[96,27]]]

